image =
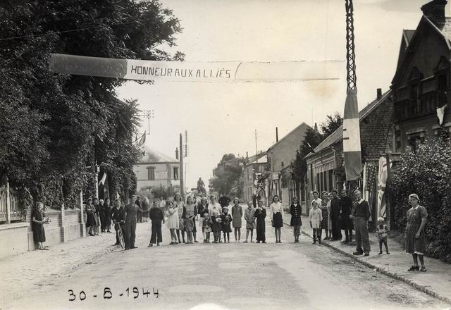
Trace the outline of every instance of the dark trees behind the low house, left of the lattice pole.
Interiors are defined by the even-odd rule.
[[[332,116],[326,116],[326,122],[321,123],[321,132],[316,132],[313,128],[307,128],[299,149],[296,151],[295,161],[291,165],[291,177],[300,187],[304,187],[305,175],[307,173],[307,161],[305,156],[314,151],[315,147],[323,142],[328,135],[340,128],[343,119],[340,113],[335,112]]]

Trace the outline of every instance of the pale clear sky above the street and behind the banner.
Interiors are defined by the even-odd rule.
[[[390,87],[403,29],[415,29],[426,0],[354,0],[359,109]],[[185,61],[341,61],[339,80],[126,82],[122,99],[153,109],[146,144],[175,157],[187,130],[186,186],[208,180],[223,154],[266,151],[300,123],[342,114],[346,95],[344,0],[161,0],[180,19]],[[449,10],[449,8],[448,8]],[[449,14],[448,14],[449,15]],[[142,132],[147,118],[142,120]],[[206,182],[206,184],[208,184]]]

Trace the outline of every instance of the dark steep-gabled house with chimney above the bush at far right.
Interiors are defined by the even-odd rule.
[[[425,4],[416,30],[402,32],[391,86],[395,99],[396,152],[415,149],[426,136],[451,132],[451,18],[445,18],[446,4],[445,0]],[[443,113],[441,124],[440,113]]]

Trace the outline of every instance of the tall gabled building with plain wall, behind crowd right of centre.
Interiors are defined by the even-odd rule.
[[[271,173],[268,177],[269,199],[272,199],[273,195],[278,194],[280,199],[282,199],[285,208],[290,204],[290,190],[288,183],[286,184],[286,187],[283,187],[285,182],[282,182],[281,180],[282,171],[290,166],[292,161],[295,161],[296,151],[299,149],[299,144],[302,144],[302,141],[304,141],[305,132],[308,128],[311,127],[306,123],[301,123],[297,128],[288,133],[288,135],[285,135],[285,137],[276,141],[276,143],[266,151]],[[296,192],[296,195],[299,196],[299,189],[297,189]]]

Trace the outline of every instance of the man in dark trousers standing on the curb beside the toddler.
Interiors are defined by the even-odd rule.
[[[357,248],[356,252],[353,254],[362,255],[365,253],[365,256],[369,256],[371,250],[368,236],[368,220],[371,216],[369,203],[362,199],[362,194],[358,190],[354,192],[354,196],[357,203],[352,210],[352,216],[354,216],[355,241],[357,242]]]

